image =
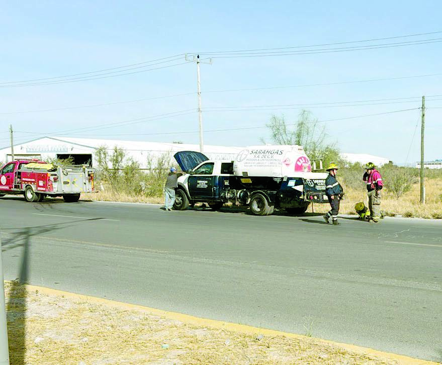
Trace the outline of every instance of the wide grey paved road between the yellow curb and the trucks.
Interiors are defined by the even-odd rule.
[[[442,221],[21,198],[0,214],[9,280],[442,360]]]

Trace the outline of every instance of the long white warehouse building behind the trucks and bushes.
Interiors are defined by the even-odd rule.
[[[123,141],[109,139],[91,139],[91,138],[71,138],[71,137],[41,137],[24,143],[14,145],[15,159],[41,160],[60,158],[65,159],[73,157],[74,164],[90,164],[97,167],[96,150],[105,146],[111,154],[115,146],[125,151],[126,158],[132,158],[138,162],[141,168],[149,167],[148,160],[155,161],[159,157],[167,156],[170,158],[170,164],[175,164],[173,154],[178,151],[199,151],[197,144],[184,143],[162,143],[162,142],[143,142],[143,141]],[[229,160],[240,152],[244,147],[228,147],[205,145],[204,154],[211,160]],[[341,153],[341,157],[348,162],[361,162],[363,164],[371,161],[377,166],[382,166],[389,162],[388,158],[373,156],[369,154]],[[12,160],[11,146],[5,146],[0,149],[0,162]]]

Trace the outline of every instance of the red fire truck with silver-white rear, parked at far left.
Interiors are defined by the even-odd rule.
[[[94,191],[94,170],[84,165],[57,166],[36,159],[16,160],[0,170],[0,197],[23,194],[28,202],[41,202],[45,197],[77,202],[80,193]]]

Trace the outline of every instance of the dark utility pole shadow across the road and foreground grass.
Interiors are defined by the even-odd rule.
[[[23,247],[20,258],[18,279],[12,282],[8,290],[6,314],[8,322],[8,343],[11,364],[24,365],[26,357],[26,318],[27,318],[27,291],[25,284],[29,283],[29,251],[32,236],[53,232],[74,223],[100,220],[102,218],[81,219],[66,223],[49,224],[45,226],[7,228],[5,230],[17,230],[11,233],[6,241],[2,242],[2,252],[14,248]],[[3,240],[2,240],[3,241]]]

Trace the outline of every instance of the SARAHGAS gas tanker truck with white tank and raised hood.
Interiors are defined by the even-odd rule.
[[[249,206],[254,215],[269,215],[275,208],[302,214],[312,202],[328,203],[327,174],[311,171],[301,146],[249,146],[234,161],[210,161],[195,151],[173,157],[187,172],[178,178],[175,210],[199,202],[218,210],[231,202]]]

